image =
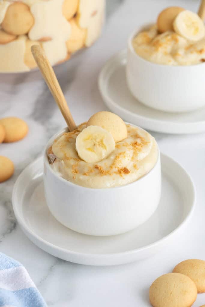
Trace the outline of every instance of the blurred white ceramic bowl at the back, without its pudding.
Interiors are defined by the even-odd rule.
[[[205,106],[205,63],[169,66],[144,60],[128,39],[127,84],[141,103],[161,111],[186,112]]]

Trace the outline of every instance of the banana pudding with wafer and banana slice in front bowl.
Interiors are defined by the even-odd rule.
[[[47,154],[53,171],[64,179],[87,188],[111,188],[148,173],[158,147],[145,130],[111,112],[98,112],[57,138]]]

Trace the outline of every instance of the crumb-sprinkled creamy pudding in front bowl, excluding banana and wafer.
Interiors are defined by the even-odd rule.
[[[51,168],[64,179],[88,188],[110,188],[136,181],[156,164],[158,149],[155,139],[146,131],[126,125],[127,138],[117,142],[103,160],[87,163],[76,151],[76,138],[86,123],[64,133],[48,150]]]

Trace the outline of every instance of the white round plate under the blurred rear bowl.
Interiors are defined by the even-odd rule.
[[[126,82],[126,63],[127,52],[123,50],[108,60],[99,75],[102,98],[112,112],[127,122],[156,132],[190,134],[205,131],[205,108],[169,113],[149,108],[134,98]]]

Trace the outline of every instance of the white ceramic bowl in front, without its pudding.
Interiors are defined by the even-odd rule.
[[[156,165],[137,181],[116,188],[85,188],[59,177],[49,165],[47,149],[66,131],[55,134],[44,152],[45,199],[53,216],[87,235],[117,235],[148,220],[161,195],[159,149]]]

